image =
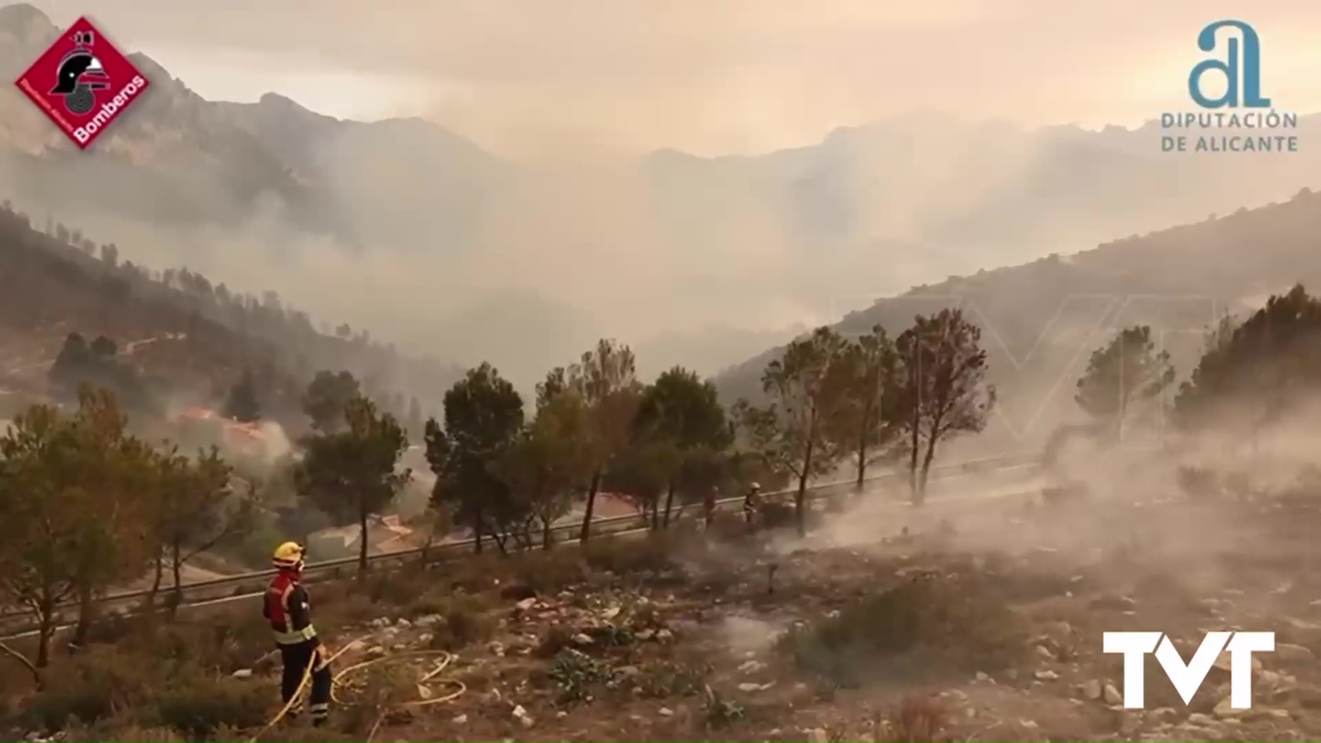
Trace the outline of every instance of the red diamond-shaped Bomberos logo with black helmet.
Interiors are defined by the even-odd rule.
[[[87,19],[78,19],[15,81],[86,149],[147,90],[147,78]]]

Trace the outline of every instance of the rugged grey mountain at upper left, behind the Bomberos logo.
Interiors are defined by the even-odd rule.
[[[0,8],[0,74],[17,78],[57,36],[30,5]],[[86,152],[16,87],[0,90],[0,171],[25,206],[222,226],[276,210],[349,245],[421,249],[461,241],[501,188],[497,159],[435,124],[341,122],[279,95],[209,102],[149,57],[129,59],[152,87]]]

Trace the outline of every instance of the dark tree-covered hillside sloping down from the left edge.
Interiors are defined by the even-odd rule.
[[[157,409],[217,405],[247,370],[266,418],[295,426],[304,418],[300,395],[318,370],[351,372],[363,391],[402,419],[413,407],[436,409],[458,375],[435,360],[373,340],[366,329],[318,329],[273,291],[259,299],[188,268],[120,262],[118,246],[98,246],[58,223],[32,225],[5,204],[0,406],[12,409],[50,391],[46,373],[70,333],[111,341],[103,350],[135,370],[132,385]],[[139,395],[124,389],[127,378],[118,377],[116,391],[132,402]]]

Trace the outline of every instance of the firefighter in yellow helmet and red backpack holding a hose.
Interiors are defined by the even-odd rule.
[[[312,627],[308,606],[308,591],[300,583],[303,578],[303,546],[285,542],[275,549],[271,563],[277,570],[266,590],[262,616],[271,623],[275,644],[284,662],[284,676],[280,680],[280,698],[284,703],[299,691],[303,676],[312,666],[312,724],[325,724],[330,715],[330,666],[326,664],[325,646]],[[289,707],[287,718],[297,719],[303,701]]]

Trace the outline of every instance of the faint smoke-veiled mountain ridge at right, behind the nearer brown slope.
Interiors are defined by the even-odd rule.
[[[1300,120],[1293,153],[1166,153],[1162,134],[1157,122],[1026,131],[931,114],[840,128],[819,144],[764,156],[666,151],[647,168],[683,239],[716,247],[752,215],[774,214],[785,239],[815,260],[852,259],[859,250],[890,256],[877,243],[901,241],[927,276],[901,271],[911,283],[935,271],[1074,251],[1317,185],[1321,148],[1306,143],[1321,143],[1321,115]],[[871,280],[884,274],[877,266]]]

